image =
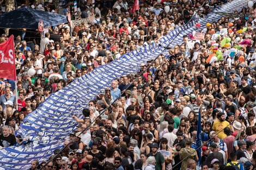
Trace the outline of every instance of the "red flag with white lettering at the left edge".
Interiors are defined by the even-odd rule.
[[[0,44],[0,77],[16,81],[14,36]]]

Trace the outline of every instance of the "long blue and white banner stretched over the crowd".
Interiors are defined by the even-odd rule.
[[[241,10],[247,2],[248,0],[235,0],[215,11]],[[202,25],[200,29],[205,28],[207,22],[217,21],[221,17],[220,15],[216,18],[216,15],[218,14],[209,14],[206,18],[200,19]],[[160,44],[136,49],[122,55],[118,60],[97,67],[62,90],[53,93],[24,119],[19,130],[16,131],[16,134],[21,135],[22,138],[29,138],[34,142],[26,146],[13,146],[0,150],[0,167],[28,169],[29,162],[33,159],[38,159],[39,162],[48,159],[54,149],[62,147],[64,138],[77,128],[72,115],[81,118],[83,108],[88,108],[89,100],[98,95],[100,89],[108,87],[115,78],[138,71],[142,63],[155,59],[161,54],[164,46],[172,47],[174,43],[175,45],[182,43],[183,35],[199,29],[194,27],[195,23],[196,21],[193,21],[185,27],[173,30],[161,39]]]

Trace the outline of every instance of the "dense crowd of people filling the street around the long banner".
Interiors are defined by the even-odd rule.
[[[39,3],[25,5],[76,20],[95,18],[74,28],[50,27],[41,39],[29,30],[16,36],[17,91],[13,80],[0,78],[2,148],[28,143],[15,130],[52,93],[227,2],[139,1],[134,12],[134,2],[126,0],[79,1],[77,12],[72,2]],[[50,162],[33,160],[31,169],[256,168],[255,8],[207,23],[202,40],[184,35],[169,55],[112,81],[83,109],[83,119],[72,117],[78,129],[62,152],[54,150]],[[7,39],[3,34],[0,41]]]

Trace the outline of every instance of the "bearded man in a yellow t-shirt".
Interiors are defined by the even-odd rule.
[[[227,135],[224,134],[223,130],[225,127],[231,128],[228,121],[225,121],[225,114],[220,112],[217,114],[218,121],[212,125],[212,130],[216,131],[218,137],[223,140]],[[220,132],[220,133],[219,133]]]

